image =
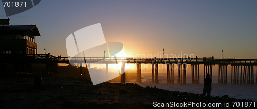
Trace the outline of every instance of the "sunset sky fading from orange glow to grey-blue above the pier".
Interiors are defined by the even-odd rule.
[[[10,25],[38,26],[38,54],[67,57],[72,32],[101,23],[107,42],[128,57],[194,54],[257,59],[257,1],[41,1],[10,16]],[[0,19],[6,17],[0,7]],[[104,48],[103,48],[104,50]],[[182,52],[182,53],[181,53]]]

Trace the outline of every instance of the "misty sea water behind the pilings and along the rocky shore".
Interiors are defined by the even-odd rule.
[[[228,95],[229,97],[233,97],[236,99],[247,99],[257,101],[257,84],[256,75],[254,74],[254,84],[234,84],[230,83],[231,81],[231,74],[228,73],[228,83],[218,83],[218,73],[214,73],[212,75],[212,91],[211,96],[219,96],[222,97],[223,95]],[[133,75],[136,76],[136,73]],[[179,91],[179,92],[191,92],[191,93],[198,93],[201,94],[204,88],[204,76],[200,73],[200,84],[192,84],[191,82],[191,75],[186,77],[186,84],[177,84],[177,75],[174,74],[174,84],[169,84],[166,82],[167,75],[164,73],[159,73],[159,84],[152,83],[152,74],[151,73],[142,73],[142,83],[138,83],[140,86],[146,87],[154,87],[170,90],[170,91]],[[126,80],[126,83],[135,83],[136,79]],[[199,99],[199,98],[195,98]]]

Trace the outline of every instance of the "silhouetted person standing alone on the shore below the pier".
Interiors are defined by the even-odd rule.
[[[207,92],[207,101],[210,100],[210,96],[211,96],[211,78],[210,78],[210,74],[206,75],[206,78],[204,79],[204,90],[203,90],[203,94],[201,95],[200,101],[202,101],[204,99],[204,96]]]

